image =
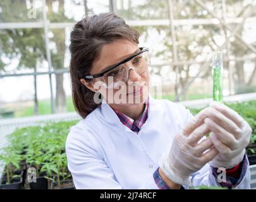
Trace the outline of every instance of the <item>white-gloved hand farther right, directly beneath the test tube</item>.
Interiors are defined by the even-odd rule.
[[[218,102],[211,102],[205,114],[210,139],[219,151],[210,165],[226,169],[235,167],[243,160],[252,128],[237,112]]]

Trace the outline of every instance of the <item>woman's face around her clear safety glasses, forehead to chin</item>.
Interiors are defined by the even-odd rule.
[[[99,59],[93,62],[90,74],[101,73],[107,67],[126,59],[127,57],[139,52],[138,45],[129,40],[116,40],[111,44],[104,45],[101,50]],[[147,68],[147,62],[143,61],[142,68],[144,71],[135,68],[138,64],[138,59],[142,57],[132,59],[123,65],[123,68],[130,69],[127,71],[126,77],[128,80],[125,82],[118,82],[117,86],[106,86],[106,77],[96,78],[93,81],[93,87],[106,99],[109,104],[119,105],[135,105],[145,102],[149,95],[149,69]],[[142,64],[142,63],[141,63]],[[125,69],[126,71],[126,69]]]

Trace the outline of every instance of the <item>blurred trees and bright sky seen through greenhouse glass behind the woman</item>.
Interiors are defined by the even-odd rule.
[[[69,35],[73,24],[82,19],[85,13],[97,14],[112,9],[140,32],[140,44],[150,48],[151,81],[152,85],[161,85],[162,97],[176,101],[211,97],[210,57],[212,51],[217,49],[224,51],[224,59],[231,59],[224,62],[224,95],[256,92],[256,52],[252,51],[256,49],[253,37],[253,33],[256,34],[256,20],[254,25],[252,20],[248,20],[256,18],[255,3],[250,0],[202,2],[205,8],[195,0],[46,0],[47,20],[51,25],[46,34],[43,27],[31,24],[44,22],[42,0],[0,1],[1,25],[30,23],[25,28],[0,28],[0,73],[48,71],[46,36],[49,39],[52,70],[67,70]],[[28,12],[32,9],[36,11],[36,18],[28,18]],[[170,13],[173,15],[172,23]],[[226,28],[216,23],[216,17],[224,21],[233,20],[233,23],[228,23],[229,28]],[[241,23],[243,18],[245,20]],[[61,23],[66,23],[66,26],[59,27]],[[235,30],[252,49],[232,36]],[[251,59],[241,59],[245,57]],[[43,80],[49,78],[42,78],[39,80],[39,76],[29,76],[32,85],[26,87],[27,91],[18,85],[16,91],[19,96],[13,96],[13,101],[0,95],[0,110],[13,110],[15,117],[51,113],[51,109],[44,107],[51,106],[50,90],[42,84]],[[23,82],[21,78],[17,79]],[[7,80],[8,77],[0,77],[0,88],[3,90]],[[56,112],[72,111],[68,73],[55,74],[52,80]],[[14,81],[8,82],[15,85]],[[16,92],[9,93],[13,95]]]

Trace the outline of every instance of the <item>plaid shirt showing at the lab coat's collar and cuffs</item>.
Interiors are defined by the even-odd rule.
[[[138,120],[133,120],[130,117],[126,116],[125,114],[119,112],[118,110],[114,110],[116,112],[116,115],[119,117],[120,121],[131,131],[138,134],[140,131],[140,128],[142,128],[142,125],[147,121],[148,116],[148,110],[149,110],[149,98],[145,102],[145,109],[143,110],[142,115],[138,118]],[[246,157],[243,158],[243,161],[236,165],[233,169],[226,170],[226,182],[221,182],[222,187],[228,187],[231,189],[232,187],[235,187],[238,185],[243,177],[245,176],[245,173],[247,171],[247,160]],[[217,169],[214,167],[211,167],[212,174],[217,177],[219,173],[217,172]],[[154,181],[157,187],[159,189],[169,189],[168,185],[162,180],[161,176],[159,175],[158,169],[155,170],[154,174]],[[181,186],[181,189],[184,189]]]

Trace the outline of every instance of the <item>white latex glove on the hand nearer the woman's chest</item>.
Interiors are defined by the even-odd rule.
[[[205,138],[200,141],[207,133],[210,133],[210,130],[199,115],[176,135],[171,150],[160,161],[162,172],[171,181],[190,186],[190,174],[197,172],[205,163],[216,157],[218,152],[212,140]],[[208,151],[205,152],[206,150]]]

